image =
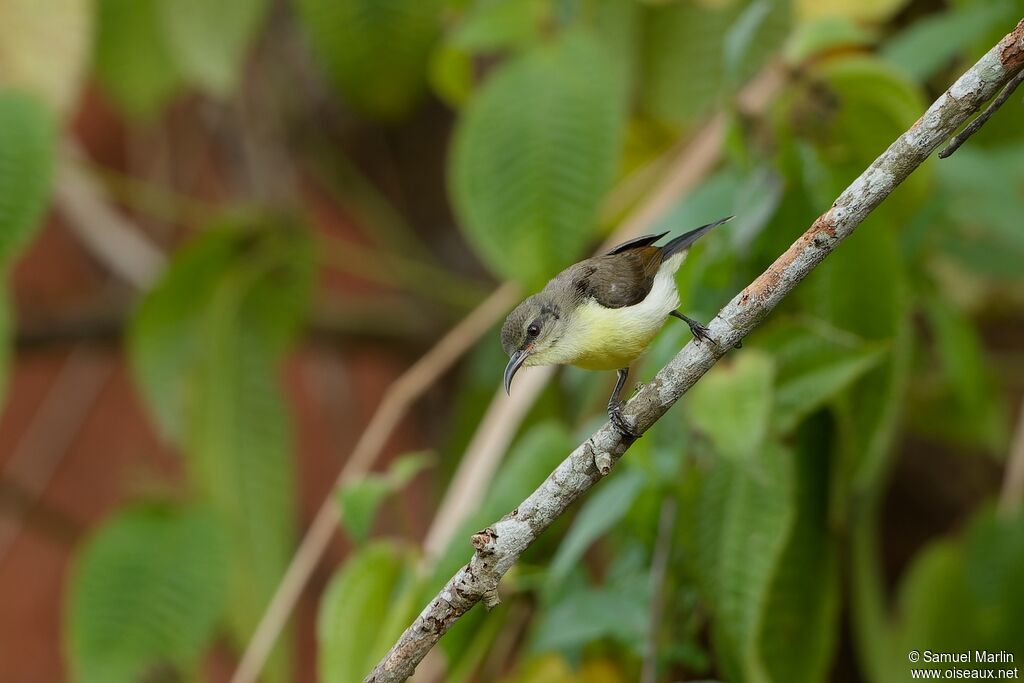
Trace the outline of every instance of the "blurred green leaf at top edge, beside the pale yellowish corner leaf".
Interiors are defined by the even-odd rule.
[[[160,1],[99,0],[96,75],[130,116],[155,116],[181,84],[162,30]]]

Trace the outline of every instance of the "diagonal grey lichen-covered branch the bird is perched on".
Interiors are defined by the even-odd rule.
[[[1024,19],[939,97],[840,195],[788,250],[712,321],[716,344],[690,342],[625,408],[643,433],[742,340],[910,173],[1024,67]],[[477,602],[494,605],[519,555],[633,443],[605,424],[511,513],[472,537],[469,563],[449,580],[365,683],[404,681],[434,643]],[[600,465],[598,465],[600,463]]]

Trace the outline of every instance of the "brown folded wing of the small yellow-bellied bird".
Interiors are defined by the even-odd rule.
[[[594,299],[606,308],[632,306],[647,297],[660,264],[657,247],[635,247],[578,264],[572,285],[581,298]]]

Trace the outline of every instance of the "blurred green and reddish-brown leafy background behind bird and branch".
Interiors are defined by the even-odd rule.
[[[227,680],[330,496],[343,533],[263,680],[361,680],[467,556],[463,531],[421,548],[463,494],[497,329],[332,493],[401,370],[499,282],[589,253],[719,117],[721,161],[652,226],[738,216],[679,274],[710,317],[1022,15],[3,0],[0,678]],[[767,106],[737,106],[769,68]],[[1024,657],[1022,117],[1017,95],[914,173],[417,680],[887,683],[911,649]],[[126,278],[139,238],[152,267]],[[609,387],[561,372],[460,528],[527,495]]]

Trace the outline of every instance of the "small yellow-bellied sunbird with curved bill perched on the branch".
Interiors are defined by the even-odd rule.
[[[524,366],[614,370],[618,377],[608,398],[608,419],[625,436],[635,438],[638,434],[623,417],[618,399],[630,364],[670,315],[685,322],[697,340],[712,341],[708,328],[678,310],[675,274],[700,236],[732,218],[701,225],[660,247],[654,243],[668,232],[637,238],[551,279],[502,326],[502,347],[509,355],[505,391],[511,393],[512,378]]]

